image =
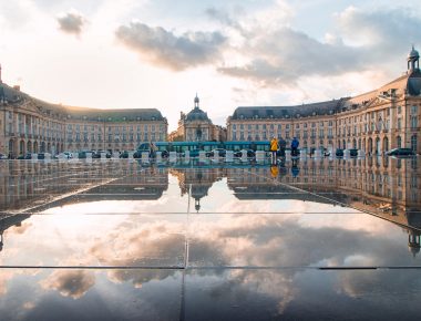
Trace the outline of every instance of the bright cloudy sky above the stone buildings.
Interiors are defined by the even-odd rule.
[[[237,106],[357,95],[421,50],[419,0],[0,0],[2,81],[38,99],[158,108],[194,96],[215,124]]]

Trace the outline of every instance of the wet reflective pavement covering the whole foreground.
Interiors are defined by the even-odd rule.
[[[1,162],[0,319],[415,320],[420,162]]]

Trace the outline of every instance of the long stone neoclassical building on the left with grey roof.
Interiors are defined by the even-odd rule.
[[[156,108],[96,110],[45,103],[0,79],[0,153],[135,149],[165,141],[167,120]]]

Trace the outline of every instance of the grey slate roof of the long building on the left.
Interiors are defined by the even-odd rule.
[[[21,104],[24,101],[31,101],[37,107],[41,107],[52,113],[59,113],[68,120],[83,121],[165,121],[165,117],[157,108],[86,108],[75,107],[61,104],[51,104],[30,96],[29,94],[16,90],[4,83],[0,84],[0,99],[3,99],[11,104]]]

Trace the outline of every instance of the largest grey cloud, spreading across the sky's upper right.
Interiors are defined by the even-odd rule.
[[[288,23],[270,23],[273,19],[263,30],[257,24],[259,20],[242,21],[215,9],[207,10],[207,14],[243,38],[237,41],[239,45],[232,48],[236,59],[228,59],[217,70],[260,86],[292,87],[308,76],[364,72],[386,62],[396,62],[393,65],[398,66],[421,29],[421,19],[403,9],[367,12],[350,7],[335,15],[337,30],[327,32],[325,40],[297,31]]]

